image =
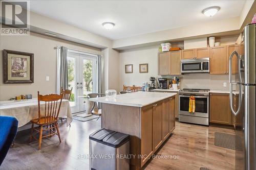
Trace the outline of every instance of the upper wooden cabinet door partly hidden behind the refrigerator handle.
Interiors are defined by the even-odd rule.
[[[239,54],[239,45],[227,45],[227,72],[229,72],[229,56],[237,51]],[[238,73],[238,58],[233,56],[232,58],[232,74]]]

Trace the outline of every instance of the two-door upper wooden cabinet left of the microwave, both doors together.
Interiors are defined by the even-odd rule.
[[[181,51],[158,53],[158,75],[180,75]]]

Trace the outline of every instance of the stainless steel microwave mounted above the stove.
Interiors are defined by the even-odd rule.
[[[209,58],[181,60],[181,73],[210,72],[209,61]]]

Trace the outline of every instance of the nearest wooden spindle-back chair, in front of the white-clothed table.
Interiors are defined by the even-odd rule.
[[[30,121],[32,123],[30,142],[33,140],[33,138],[35,140],[38,140],[39,150],[41,149],[41,141],[42,141],[42,138],[44,137],[58,135],[59,142],[61,142],[59,128],[58,128],[58,116],[59,116],[59,110],[60,110],[63,94],[64,94],[64,91],[62,91],[61,94],[41,95],[39,94],[39,91],[37,91],[38,118],[32,119]],[[59,100],[60,102],[58,102]],[[40,107],[41,101],[45,102],[45,107],[44,107],[45,111],[43,113],[41,113],[41,107]],[[34,128],[34,124],[38,125],[38,129]],[[49,130],[50,134],[42,136],[42,132],[46,130]],[[38,139],[33,135],[34,131],[36,131],[36,134],[39,133]]]

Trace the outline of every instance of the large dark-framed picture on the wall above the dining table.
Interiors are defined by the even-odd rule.
[[[4,83],[34,83],[34,54],[3,50]]]

